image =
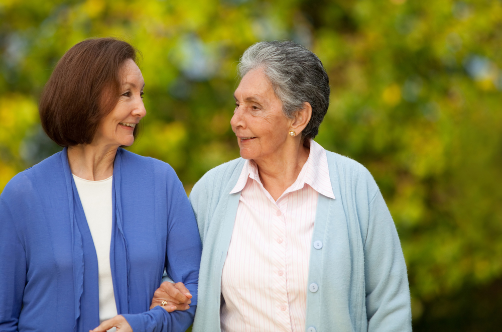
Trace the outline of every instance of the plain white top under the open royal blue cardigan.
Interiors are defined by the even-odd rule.
[[[97,254],[99,271],[99,321],[117,315],[115,295],[110,268],[111,244],[111,185],[113,177],[106,180],[89,181],[73,175],[78,196],[84,209],[87,225]]]

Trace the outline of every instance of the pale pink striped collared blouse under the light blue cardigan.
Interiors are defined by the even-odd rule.
[[[221,330],[303,331],[317,195],[335,198],[326,151],[310,142],[307,162],[277,201],[254,161],[230,193],[241,190],[221,278]]]

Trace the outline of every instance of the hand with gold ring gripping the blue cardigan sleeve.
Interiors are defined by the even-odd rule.
[[[191,298],[192,294],[190,294],[190,291],[182,282],[173,284],[172,282],[165,281],[155,291],[150,309],[160,305],[167,312],[186,310],[190,308],[189,304],[192,303]],[[167,304],[162,305],[162,301],[164,300],[167,301]]]

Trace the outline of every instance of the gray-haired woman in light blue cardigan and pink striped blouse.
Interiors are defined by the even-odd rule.
[[[203,244],[194,331],[410,331],[398,234],[369,172],[313,141],[328,76],[292,42],[239,64],[230,124],[242,158],[190,202]]]

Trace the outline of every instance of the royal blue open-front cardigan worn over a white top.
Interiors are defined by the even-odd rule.
[[[201,243],[166,163],[118,149],[110,266],[117,312],[135,332],[184,331],[197,304]],[[96,252],[66,148],[16,175],[0,195],[0,330],[99,325]],[[166,268],[194,296],[187,311],[149,310]]]

